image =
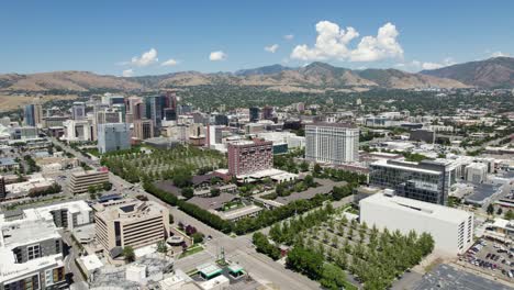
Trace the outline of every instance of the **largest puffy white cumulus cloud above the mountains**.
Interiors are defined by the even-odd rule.
[[[351,26],[339,27],[329,21],[316,24],[316,43],[313,47],[306,44],[298,45],[291,53],[291,58],[301,60],[338,59],[349,62],[376,62],[386,58],[403,57],[403,48],[398,43],[399,32],[391,23],[386,23],[378,30],[377,36],[364,36],[356,48],[349,43],[359,37]]]

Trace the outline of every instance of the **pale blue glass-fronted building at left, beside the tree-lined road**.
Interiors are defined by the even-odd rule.
[[[98,125],[98,150],[103,154],[131,148],[131,127],[126,123]]]

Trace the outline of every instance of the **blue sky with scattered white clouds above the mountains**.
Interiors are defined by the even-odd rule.
[[[513,55],[512,11],[514,1],[4,1],[0,72],[138,76],[314,60],[415,71]]]

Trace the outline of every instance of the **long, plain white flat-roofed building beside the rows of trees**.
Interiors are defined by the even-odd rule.
[[[403,234],[426,232],[440,253],[462,254],[473,244],[473,213],[384,193],[364,199],[359,205],[360,222]]]

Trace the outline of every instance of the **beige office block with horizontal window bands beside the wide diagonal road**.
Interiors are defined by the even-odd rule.
[[[125,199],[94,204],[93,210],[97,241],[108,252],[153,245],[169,235],[169,212],[157,202]]]

